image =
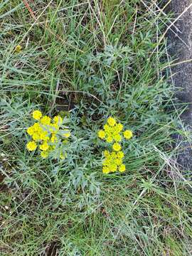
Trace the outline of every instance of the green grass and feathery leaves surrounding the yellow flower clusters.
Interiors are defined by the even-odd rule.
[[[191,181],[172,136],[184,132],[159,43],[169,18],[144,3],[151,11],[139,0],[28,1],[31,15],[1,1],[1,255],[191,255]],[[34,109],[69,115],[65,161],[26,150]],[[127,171],[105,176],[97,130],[110,115],[134,138]]]

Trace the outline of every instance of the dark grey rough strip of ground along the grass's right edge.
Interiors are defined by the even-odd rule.
[[[169,32],[169,54],[171,58],[176,59],[176,63],[180,63],[171,68],[171,72],[174,74],[175,87],[183,89],[180,92],[176,89],[176,97],[178,103],[185,103],[187,106],[181,118],[189,134],[192,132],[192,61],[186,62],[186,60],[192,59],[192,5],[188,9],[190,5],[191,0],[172,0],[169,5],[169,11],[174,12],[174,18],[182,14],[176,21],[176,26],[171,27],[178,36]],[[178,163],[184,169],[192,170],[191,144],[185,142],[181,136],[177,136],[177,139],[182,148]]]

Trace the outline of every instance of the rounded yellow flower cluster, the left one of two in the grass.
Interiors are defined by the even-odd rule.
[[[63,144],[68,142],[70,131],[63,129],[62,117],[56,116],[51,119],[46,115],[43,116],[39,110],[33,111],[32,116],[37,122],[27,129],[27,133],[33,139],[26,145],[28,151],[34,151],[38,147],[41,151],[41,156],[46,158],[55,149],[58,142]],[[65,159],[65,156],[66,154],[61,153],[60,159]]]

